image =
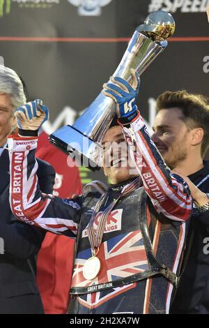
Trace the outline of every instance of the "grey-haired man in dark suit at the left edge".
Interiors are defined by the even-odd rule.
[[[14,128],[13,111],[25,102],[18,75],[0,66],[0,313],[44,313],[36,285],[36,255],[45,232],[17,221],[9,204],[9,158],[5,147]],[[52,193],[54,169],[44,161],[38,160],[38,165],[39,184],[45,193]]]

